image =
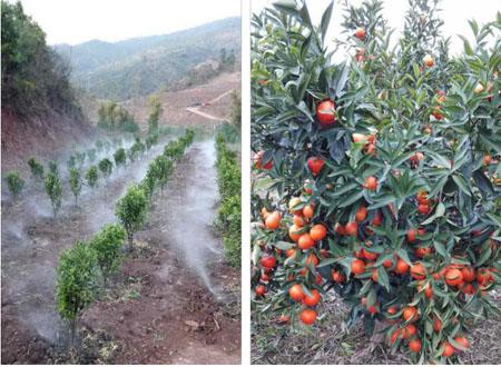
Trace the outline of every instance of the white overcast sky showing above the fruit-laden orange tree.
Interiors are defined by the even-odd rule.
[[[253,0],[252,10],[259,12],[265,6],[271,4],[272,0]],[[306,0],[312,21],[315,24],[320,23],[325,8],[330,0]],[[362,0],[352,0],[353,4],[362,3]],[[384,0],[383,16],[389,21],[389,26],[395,28],[397,32],[393,33],[393,38],[400,34],[404,26],[404,16],[409,6],[407,0]],[[452,36],[451,50],[453,53],[462,50],[463,42],[456,34],[466,36],[472,39],[472,32],[469,19],[475,19],[478,22],[488,22],[495,20],[495,12],[501,11],[501,0],[442,0],[440,3],[442,12],[440,17],[445,24],[442,27],[443,36]],[[327,32],[327,40],[334,38],[344,39],[345,34],[341,37],[342,9],[338,0],[334,2],[334,11],[331,19],[330,30]]]

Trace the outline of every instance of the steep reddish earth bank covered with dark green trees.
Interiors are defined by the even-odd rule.
[[[70,86],[68,66],[20,2],[1,2],[2,170],[26,167],[30,155],[58,150],[94,135]]]

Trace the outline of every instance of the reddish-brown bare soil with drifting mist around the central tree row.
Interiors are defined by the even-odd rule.
[[[100,301],[86,313],[81,333],[85,347],[73,356],[77,360],[68,360],[63,353],[66,327],[55,311],[58,255],[75,240],[87,239],[115,220],[116,200],[128,184],[143,178],[158,152],[127,167],[106,189],[88,194],[81,209],[66,205],[57,225],[43,211],[47,208],[41,192],[27,192],[30,200],[2,208],[3,363],[239,363],[237,272],[222,261],[216,239],[210,240],[216,251],[206,254],[203,266],[189,265],[183,250],[189,244],[178,241],[180,231],[169,230],[179,212],[176,205],[193,205],[196,199],[186,199],[187,179],[200,170],[210,171],[196,159],[204,149],[204,145],[195,143],[177,165],[168,187],[153,204],[146,228],[138,234],[135,258],[124,264]],[[196,231],[189,232],[195,236]],[[200,234],[210,238],[207,227]],[[196,269],[205,269],[208,284],[223,289],[224,301],[216,301],[200,277],[202,270]]]

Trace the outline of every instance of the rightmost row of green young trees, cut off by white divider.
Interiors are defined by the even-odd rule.
[[[236,152],[229,150],[223,133],[216,136],[217,150],[217,184],[220,196],[216,229],[223,235],[225,252],[229,262],[240,266],[242,254],[242,202],[240,202],[240,169]]]

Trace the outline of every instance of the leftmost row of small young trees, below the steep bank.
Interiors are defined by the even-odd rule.
[[[96,148],[89,149],[87,151],[78,151],[71,153],[67,161],[68,167],[68,184],[72,195],[75,196],[75,204],[78,205],[78,197],[82,191],[82,186],[87,185],[89,188],[95,189],[99,185],[99,171],[102,178],[107,181],[111,176],[114,167],[119,169],[127,165],[127,162],[137,161],[141,155],[146,153],[155,145],[158,143],[158,135],[149,136],[143,142],[139,137],[135,138],[135,142],[129,149],[122,148],[121,139],[114,139],[112,142],[98,140],[96,142]],[[115,146],[112,157],[102,158],[97,165],[94,162],[97,156],[101,152],[110,150]],[[86,161],[90,163],[90,167],[84,173],[84,168]],[[114,165],[115,161],[115,165]],[[30,167],[31,178],[35,184],[42,185],[45,191],[50,198],[53,215],[57,217],[59,208],[62,202],[62,186],[61,178],[59,175],[58,163],[53,160],[49,161],[49,167],[46,173],[43,165],[38,161],[35,157],[28,159],[28,166]],[[16,200],[19,194],[24,188],[24,180],[22,179],[19,171],[9,171],[6,176],[6,182],[9,191],[11,192],[12,199]]]

